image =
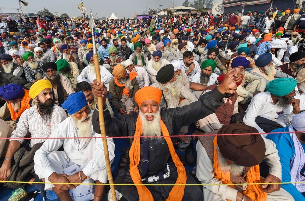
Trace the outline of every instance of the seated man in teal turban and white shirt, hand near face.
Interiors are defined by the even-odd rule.
[[[270,132],[276,128],[282,128],[279,123],[279,115],[284,115],[292,105],[290,114],[282,116],[285,125],[291,125],[291,118],[300,113],[300,100],[293,98],[296,95],[297,81],[293,78],[278,78],[266,85],[266,92],[255,95],[243,122],[246,125],[256,128],[260,133]],[[260,118],[258,118],[260,117]],[[266,136],[266,134],[262,134]]]

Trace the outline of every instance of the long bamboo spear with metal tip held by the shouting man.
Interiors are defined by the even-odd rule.
[[[91,32],[92,32],[92,36],[94,36],[94,21],[93,21],[93,16],[92,16],[92,12],[90,9],[90,24],[91,24]],[[92,44],[93,44],[93,62],[94,62],[94,66],[95,66],[95,74],[96,74],[96,80],[101,83],[102,79],[101,79],[101,72],[99,70],[99,56],[97,54],[97,49],[96,49],[96,43],[95,43],[95,39],[93,37],[92,39]],[[89,61],[88,61],[89,62]],[[110,184],[110,189],[111,189],[111,193],[112,193],[112,200],[117,201],[117,196],[115,193],[115,188],[113,185],[113,177],[112,177],[112,173],[111,173],[111,165],[110,165],[110,159],[109,159],[109,150],[108,150],[108,144],[107,144],[107,139],[106,137],[106,130],[105,130],[105,122],[104,122],[104,113],[103,113],[103,99],[102,97],[97,97],[97,104],[99,106],[99,127],[101,130],[101,135],[102,135],[102,141],[103,141],[103,146],[104,146],[104,154],[105,154],[105,162],[106,162],[106,170],[107,170],[107,175],[108,175],[108,180],[109,180],[109,184]]]

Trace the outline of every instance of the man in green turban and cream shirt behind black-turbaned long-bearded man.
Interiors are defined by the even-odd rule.
[[[79,70],[75,62],[67,62],[65,59],[59,59],[56,61],[57,72],[60,75],[66,76],[75,91],[77,84],[77,76],[79,76]]]

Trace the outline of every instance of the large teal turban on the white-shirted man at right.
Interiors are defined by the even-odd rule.
[[[291,93],[296,88],[297,83],[296,79],[283,77],[268,82],[266,89],[274,96],[282,97]]]

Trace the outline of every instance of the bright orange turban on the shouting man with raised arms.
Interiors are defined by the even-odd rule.
[[[144,86],[135,93],[135,102],[141,106],[144,101],[156,101],[159,105],[161,102],[162,91],[153,86]]]

